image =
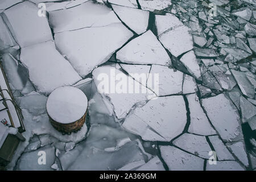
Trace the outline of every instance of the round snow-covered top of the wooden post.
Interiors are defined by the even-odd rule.
[[[49,117],[68,124],[76,122],[85,114],[88,100],[85,94],[73,86],[61,86],[53,90],[46,102]]]

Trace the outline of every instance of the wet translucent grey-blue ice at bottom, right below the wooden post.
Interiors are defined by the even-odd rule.
[[[125,131],[105,125],[92,125],[85,142],[59,155],[64,170],[116,170],[143,160],[137,141]]]

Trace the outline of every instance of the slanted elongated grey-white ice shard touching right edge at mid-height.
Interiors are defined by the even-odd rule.
[[[231,69],[231,72],[236,79],[242,93],[245,94],[245,96],[247,97],[254,98],[255,88],[253,85],[251,85],[251,82],[247,78],[246,74],[244,72],[236,71],[234,69]]]

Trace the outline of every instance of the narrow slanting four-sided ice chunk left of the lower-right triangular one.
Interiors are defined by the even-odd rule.
[[[218,160],[235,160],[218,136],[209,136],[210,143],[216,151]]]

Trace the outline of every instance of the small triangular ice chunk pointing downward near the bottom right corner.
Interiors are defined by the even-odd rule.
[[[249,166],[249,161],[247,158],[245,144],[240,141],[236,143],[226,143],[226,145],[230,148],[234,155],[245,165],[246,167]]]

